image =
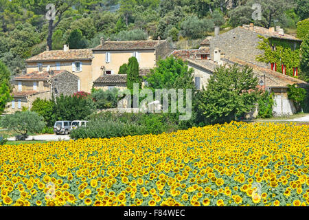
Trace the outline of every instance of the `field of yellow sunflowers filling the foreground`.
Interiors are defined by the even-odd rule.
[[[308,125],[0,146],[0,206],[308,206]]]

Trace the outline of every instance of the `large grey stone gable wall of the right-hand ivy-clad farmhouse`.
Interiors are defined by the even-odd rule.
[[[221,54],[225,53],[227,57],[239,58],[268,68],[265,63],[255,61],[256,56],[263,54],[262,50],[257,48],[258,43],[262,41],[258,38],[258,35],[258,33],[238,27],[214,37],[210,40],[211,60],[214,60],[214,50],[218,48]]]

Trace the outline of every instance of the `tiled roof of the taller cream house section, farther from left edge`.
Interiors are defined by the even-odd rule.
[[[93,50],[155,50],[161,41],[104,41],[103,45],[98,45]]]

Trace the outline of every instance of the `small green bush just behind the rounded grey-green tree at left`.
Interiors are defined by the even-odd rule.
[[[36,98],[36,100],[32,102],[31,111],[43,116],[47,126],[53,126],[56,121],[54,115],[54,105],[54,100],[42,100],[41,98]]]

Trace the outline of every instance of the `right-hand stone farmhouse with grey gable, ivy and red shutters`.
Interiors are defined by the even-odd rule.
[[[258,35],[265,36],[270,40],[288,41],[294,48],[299,47],[301,40],[284,34],[279,27],[277,27],[278,32],[275,32],[274,28],[267,30],[262,27],[254,27],[252,24],[243,25],[224,34],[218,34],[218,28],[216,29],[215,36],[211,39],[205,39],[198,50],[176,50],[172,52],[174,56],[187,61],[188,67],[194,69],[196,88],[202,89],[206,87],[211,74],[220,65],[233,65],[235,63],[240,67],[247,65],[253,69],[253,73],[258,77],[260,81],[259,87],[275,94],[273,112],[277,115],[295,113],[296,109],[293,101],[288,100],[288,85],[296,84],[299,87],[308,88],[308,83],[276,72],[274,65],[255,61],[255,57],[262,54],[262,51],[256,48],[258,42],[262,41]],[[272,47],[275,49],[275,45],[272,45]],[[197,56],[202,49],[205,55]],[[206,52],[209,52],[209,56]],[[207,58],[205,58],[206,55]],[[257,111],[251,113],[249,117],[255,117],[256,114]]]

